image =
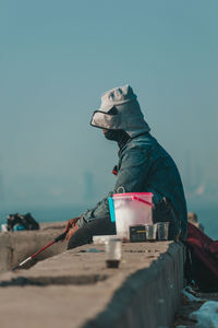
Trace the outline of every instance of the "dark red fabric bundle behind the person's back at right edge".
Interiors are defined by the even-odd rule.
[[[213,241],[195,225],[187,223],[187,260],[185,277],[194,280],[202,292],[218,291],[218,241]]]

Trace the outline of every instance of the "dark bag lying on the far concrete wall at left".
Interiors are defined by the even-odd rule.
[[[38,222],[32,216],[31,213],[26,213],[24,215],[20,213],[8,215],[7,220],[8,230],[13,231],[13,227],[16,224],[21,224],[25,230],[39,230]]]

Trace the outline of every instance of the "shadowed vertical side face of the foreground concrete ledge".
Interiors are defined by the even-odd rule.
[[[149,269],[131,274],[107,308],[83,327],[171,327],[183,288],[183,255],[174,246]]]

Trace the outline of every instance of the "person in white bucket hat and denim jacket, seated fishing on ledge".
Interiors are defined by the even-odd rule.
[[[150,134],[132,87],[106,92],[90,125],[118,143],[117,181],[95,208],[68,221],[68,249],[92,243],[94,235],[116,234],[108,197],[120,192],[153,192],[154,222],[169,221],[169,238],[185,241],[187,212],[180,174],[172,157]]]

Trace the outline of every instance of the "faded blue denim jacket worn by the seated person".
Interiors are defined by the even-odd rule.
[[[119,192],[153,192],[153,201],[170,200],[181,226],[181,239],[186,238],[187,213],[182,181],[172,157],[150,136],[130,139],[119,151],[117,183],[111,192],[97,206],[83,213],[80,226],[98,218],[109,216],[108,197]]]

